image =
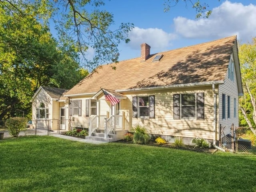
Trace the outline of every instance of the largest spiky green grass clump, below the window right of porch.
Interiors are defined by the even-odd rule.
[[[140,125],[137,125],[134,128],[134,136],[133,136],[133,142],[135,144],[146,144],[150,140],[150,136],[146,132],[146,128]]]

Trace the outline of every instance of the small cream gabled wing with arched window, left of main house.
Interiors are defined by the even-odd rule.
[[[68,129],[67,90],[40,86],[32,97],[32,125],[49,130]]]

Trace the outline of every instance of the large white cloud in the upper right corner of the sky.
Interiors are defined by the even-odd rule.
[[[240,40],[250,40],[256,31],[256,5],[226,1],[212,10],[210,18],[190,20],[174,18],[177,34],[185,38],[222,38],[238,35]]]

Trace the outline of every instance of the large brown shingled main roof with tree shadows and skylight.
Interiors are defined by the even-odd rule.
[[[66,96],[96,93],[100,87],[111,90],[134,90],[206,82],[223,82],[236,36],[222,38],[194,46],[150,54],[145,62],[141,58],[124,60],[113,70],[104,65],[90,73]],[[163,57],[152,62],[154,56]]]

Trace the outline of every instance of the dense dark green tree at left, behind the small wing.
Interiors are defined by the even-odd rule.
[[[13,111],[30,111],[40,85],[70,88],[86,75],[74,46],[58,46],[40,22],[42,14],[35,13],[39,10],[18,0],[0,1],[0,120]],[[70,70],[68,79],[56,75],[66,70],[60,65]]]

